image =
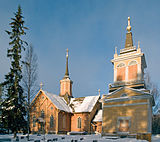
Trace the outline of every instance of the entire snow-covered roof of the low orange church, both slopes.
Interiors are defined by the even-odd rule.
[[[59,110],[74,113],[74,112],[91,112],[93,107],[96,105],[100,96],[87,96],[80,98],[71,98],[70,104],[68,105],[64,97],[49,93],[47,91],[40,90],[35,98],[33,99],[32,104],[34,104],[36,98],[43,92],[48,99],[55,105]]]

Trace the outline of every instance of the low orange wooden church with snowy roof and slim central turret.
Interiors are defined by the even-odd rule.
[[[41,87],[30,109],[30,129],[32,133],[67,134],[67,132],[101,132],[102,120],[97,115],[101,110],[100,94],[74,98],[73,81],[69,77],[68,49],[66,72],[60,80],[60,94],[44,91]],[[42,86],[42,85],[41,85]],[[99,123],[98,123],[99,122]]]

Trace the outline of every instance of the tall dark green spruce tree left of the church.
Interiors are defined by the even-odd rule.
[[[11,18],[11,31],[6,31],[10,37],[10,48],[8,48],[7,57],[10,58],[10,72],[5,75],[5,81],[2,83],[3,93],[5,95],[2,103],[2,121],[4,126],[14,133],[14,137],[18,131],[26,129],[27,122],[25,120],[26,108],[23,89],[20,85],[22,79],[21,54],[25,49],[27,42],[22,40],[25,35],[23,16],[21,7],[14,13],[15,17]]]

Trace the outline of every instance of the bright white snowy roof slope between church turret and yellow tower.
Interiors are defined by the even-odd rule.
[[[73,112],[91,112],[99,98],[100,96],[71,98],[70,106]]]

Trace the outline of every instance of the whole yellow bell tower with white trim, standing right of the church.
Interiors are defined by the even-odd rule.
[[[111,62],[114,66],[114,83],[109,84],[109,93],[103,95],[102,99],[102,133],[151,134],[154,98],[145,87],[145,55],[139,43],[138,47],[133,45],[130,17],[125,47],[119,55],[115,49]]]

